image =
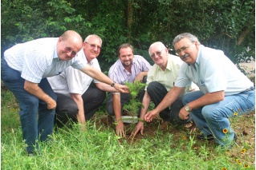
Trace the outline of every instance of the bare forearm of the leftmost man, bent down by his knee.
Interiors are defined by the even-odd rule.
[[[33,83],[30,81],[26,81],[24,83],[24,89],[34,95],[35,97],[38,97],[40,100],[47,103],[47,109],[55,109],[56,102],[51,97],[47,95],[47,93],[43,92],[43,89],[39,87],[39,84]]]

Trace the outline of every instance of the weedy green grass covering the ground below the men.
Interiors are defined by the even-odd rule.
[[[51,143],[40,143],[40,156],[29,157],[24,152],[14,96],[2,90],[1,103],[1,169],[230,170],[244,169],[246,164],[246,169],[254,169],[254,113],[233,119],[238,143],[229,152],[213,148],[213,142],[197,140],[182,127],[169,132],[156,127],[139,140],[120,139],[113,128],[97,123],[104,114],[98,113],[87,122],[86,131],[80,131],[77,125],[59,129],[51,136]],[[241,153],[243,148],[246,152]]]

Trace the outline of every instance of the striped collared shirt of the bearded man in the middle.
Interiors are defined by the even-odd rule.
[[[118,60],[109,69],[108,77],[110,77],[113,81],[124,85],[125,82],[133,82],[135,77],[140,72],[148,71],[150,68],[151,65],[144,59],[144,57],[134,55],[132,62],[132,73],[129,73],[126,69],[124,69],[124,65],[122,65],[120,60]]]

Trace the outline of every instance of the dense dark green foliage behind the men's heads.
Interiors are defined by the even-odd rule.
[[[152,62],[152,42],[164,42],[173,53],[173,38],[183,32],[222,49],[234,62],[235,54],[247,55],[248,48],[254,57],[253,0],[2,0],[1,5],[2,53],[19,42],[76,30],[83,38],[103,38],[99,59],[104,71],[116,61],[116,49],[124,42]]]

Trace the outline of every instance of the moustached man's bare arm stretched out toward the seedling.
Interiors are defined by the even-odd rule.
[[[184,89],[185,88],[173,86],[173,88],[170,89],[169,92],[165,95],[165,98],[161,101],[161,103],[157,105],[156,109],[153,109],[144,116],[144,120],[148,122],[152,121],[152,119],[157,117],[157,115],[162,110],[169,107],[169,105],[172,105],[173,102],[177,100],[177,97],[179,97],[179,95],[183,92]]]

